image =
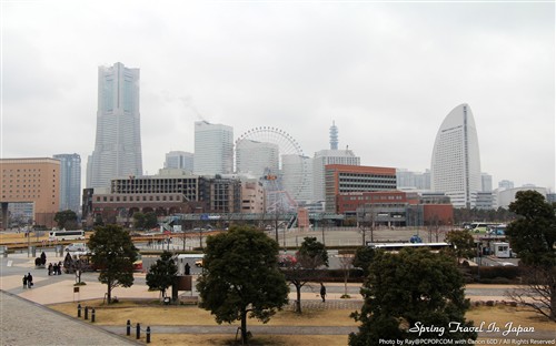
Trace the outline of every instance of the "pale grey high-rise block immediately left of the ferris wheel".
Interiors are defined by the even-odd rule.
[[[234,129],[207,121],[195,122],[193,173],[198,175],[234,173]]]

